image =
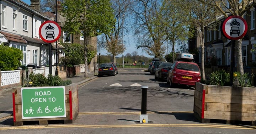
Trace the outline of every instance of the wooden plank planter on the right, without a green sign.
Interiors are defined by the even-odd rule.
[[[210,119],[256,123],[256,88],[216,86],[196,83],[194,116],[200,122]]]

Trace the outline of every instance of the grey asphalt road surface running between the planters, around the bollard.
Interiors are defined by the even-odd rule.
[[[141,85],[147,90],[149,123],[138,123],[141,113]],[[200,123],[193,116],[194,90],[188,86],[170,88],[158,82],[147,69],[119,68],[116,76],[91,80],[79,88],[79,116],[73,124],[12,126],[12,118],[0,121],[0,133],[95,133],[95,134],[185,134],[255,133],[250,125]],[[0,110],[1,111],[1,110]]]

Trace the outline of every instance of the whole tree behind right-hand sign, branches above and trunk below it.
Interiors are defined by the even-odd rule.
[[[237,15],[243,17],[246,11],[250,11],[251,7],[256,5],[256,2],[251,0],[198,0],[202,4],[207,4],[216,8],[225,17]],[[203,31],[203,30],[202,30]],[[244,74],[244,67],[242,63],[242,39],[235,40],[235,56],[236,68],[241,75]]]

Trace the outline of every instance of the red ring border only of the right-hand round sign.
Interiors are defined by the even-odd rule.
[[[224,31],[225,31],[226,22],[227,22],[229,19],[231,19],[231,18],[239,18],[239,19],[241,19],[241,20],[244,22],[245,30],[244,30],[244,33],[241,34],[239,37],[236,37],[236,38],[230,37],[228,34],[226,34],[226,32],[224,32]],[[241,16],[235,16],[235,15],[229,16],[229,17],[227,17],[226,19],[224,19],[224,21],[223,21],[223,23],[222,23],[222,31],[223,31],[222,33],[223,33],[224,37],[226,37],[226,38],[228,38],[228,39],[230,39],[230,40],[241,39],[241,38],[244,37],[244,35],[247,33],[247,30],[248,30],[247,22],[246,22],[245,19],[242,18]]]

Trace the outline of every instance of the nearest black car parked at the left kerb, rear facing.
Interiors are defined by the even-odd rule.
[[[102,63],[98,69],[98,77],[105,75],[116,75],[116,69],[112,63]]]

